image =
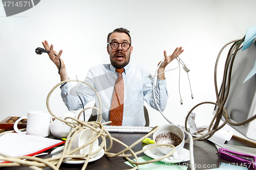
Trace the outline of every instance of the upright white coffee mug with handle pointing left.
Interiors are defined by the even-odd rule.
[[[22,132],[18,130],[17,125],[24,118],[27,118],[27,130]],[[46,137],[50,135],[50,123],[51,114],[49,111],[30,111],[28,116],[18,118],[13,128],[17,133]]]

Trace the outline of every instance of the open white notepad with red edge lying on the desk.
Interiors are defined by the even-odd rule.
[[[0,152],[9,156],[33,156],[65,143],[47,137],[7,133],[0,136]],[[0,160],[0,162],[3,162]]]

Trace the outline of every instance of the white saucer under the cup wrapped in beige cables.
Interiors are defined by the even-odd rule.
[[[59,151],[59,150],[63,150],[63,148],[64,148],[64,146],[61,146],[61,147],[59,147],[59,148],[56,148],[55,150],[52,151],[52,153],[57,152],[57,151]],[[72,150],[72,147],[71,147],[71,150]],[[76,155],[76,154],[80,155],[79,151],[73,153],[72,155]],[[98,160],[98,159],[101,158],[104,154],[105,154],[104,150],[101,149],[101,150],[95,155],[94,158],[91,158],[91,159],[89,160],[89,162]],[[61,155],[62,155],[62,152],[61,152],[61,153],[58,153],[58,154],[56,154],[56,155],[53,155],[52,157],[57,157],[57,156],[61,156]],[[70,159],[71,159],[71,158],[63,159],[62,162],[63,162],[63,163],[68,163],[68,164],[80,164],[80,163],[86,162],[86,159],[84,159],[84,160],[70,160]]]

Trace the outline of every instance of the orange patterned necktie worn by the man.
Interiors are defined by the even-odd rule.
[[[124,83],[122,72],[124,71],[123,68],[116,69],[119,73],[116,79],[113,96],[112,96],[112,103],[111,103],[111,111],[110,111],[110,121],[112,123],[111,126],[122,126],[123,121],[123,99],[124,99]]]

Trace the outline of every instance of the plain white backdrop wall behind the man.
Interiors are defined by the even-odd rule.
[[[169,55],[177,46],[185,49],[180,58],[190,69],[194,99],[182,69],[180,105],[179,72],[169,71],[165,74],[169,100],[164,111],[172,122],[184,125],[184,117],[196,104],[216,101],[217,55],[225,43],[243,38],[246,30],[256,25],[255,6],[254,0],[42,0],[32,9],[6,17],[0,5],[0,120],[24,116],[32,110],[47,110],[47,95],[60,79],[48,55],[35,54],[36,47],[43,47],[42,41],[48,40],[57,52],[63,50],[62,59],[70,79],[77,76],[83,80],[91,66],[110,62],[106,36],[123,27],[131,31],[131,62],[146,65],[152,74],[164,50]],[[219,64],[219,85],[224,61],[225,56]],[[174,61],[168,68],[176,66]],[[52,94],[50,106],[58,114],[67,111],[59,88]],[[194,110],[197,125],[209,124],[213,108],[203,105]],[[149,106],[147,109],[151,126],[167,123],[158,111]]]

